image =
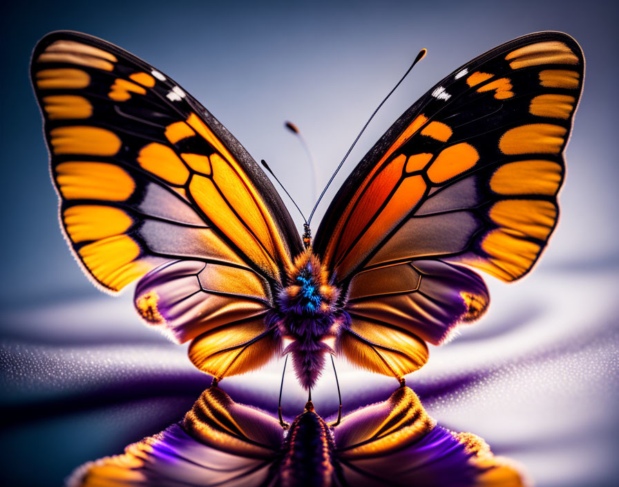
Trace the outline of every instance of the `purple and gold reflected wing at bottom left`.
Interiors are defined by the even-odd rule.
[[[267,486],[281,442],[276,419],[211,387],[183,421],[77,468],[68,485]]]

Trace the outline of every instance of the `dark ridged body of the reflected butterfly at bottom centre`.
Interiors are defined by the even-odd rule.
[[[308,404],[310,408],[293,421],[283,446],[282,487],[332,485],[333,439],[325,421]]]

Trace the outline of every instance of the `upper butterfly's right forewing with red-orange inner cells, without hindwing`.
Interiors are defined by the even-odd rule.
[[[461,66],[363,158],[314,250],[341,282],[422,257],[522,277],[555,226],[583,74],[580,47],[562,33],[520,37]]]

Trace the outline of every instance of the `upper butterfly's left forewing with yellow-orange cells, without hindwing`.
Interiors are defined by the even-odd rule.
[[[62,226],[109,291],[170,259],[276,282],[301,239],[274,187],[191,95],[141,59],[79,33],[32,56]]]

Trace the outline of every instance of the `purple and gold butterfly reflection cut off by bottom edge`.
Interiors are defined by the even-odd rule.
[[[287,435],[269,414],[219,387],[179,423],[86,463],[68,485],[88,486],[524,486],[510,461],[471,433],[438,426],[410,387],[330,428],[311,402]]]

